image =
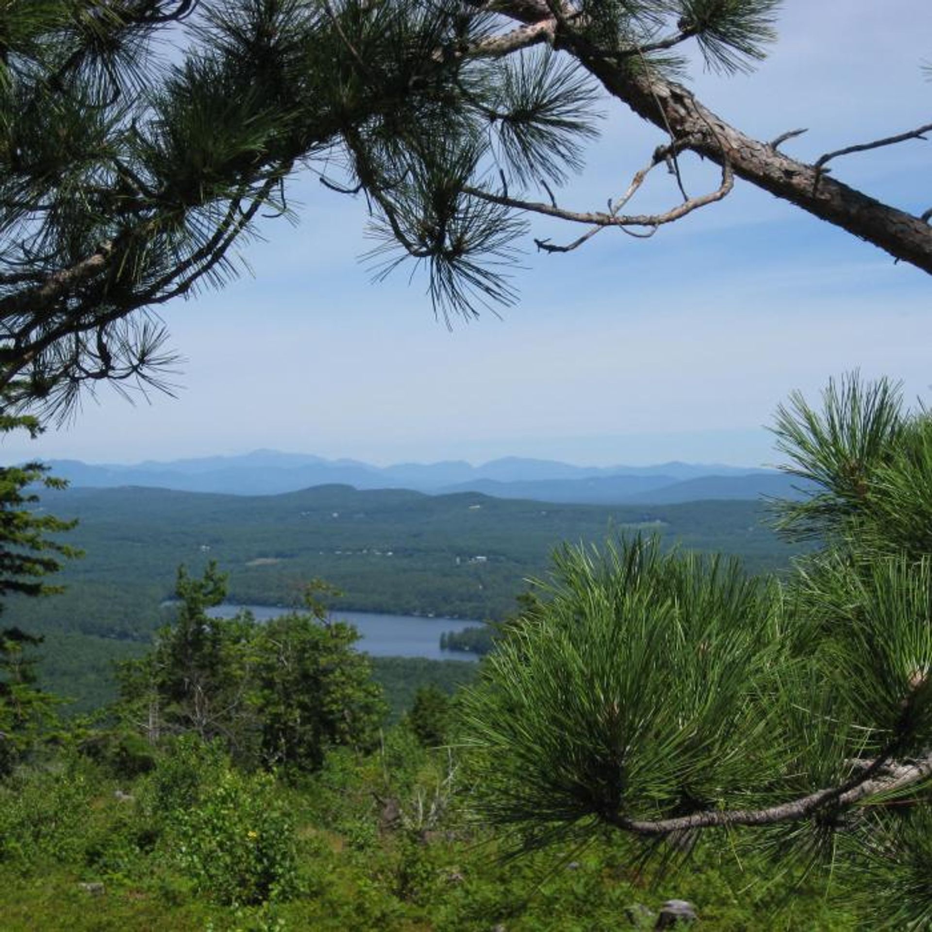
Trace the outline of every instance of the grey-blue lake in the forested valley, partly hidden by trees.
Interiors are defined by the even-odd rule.
[[[253,612],[259,621],[268,621],[292,609],[275,609],[267,605],[234,605],[224,602],[208,610],[209,615],[229,618],[241,609]],[[462,631],[482,622],[461,618],[419,618],[413,615],[377,615],[368,611],[335,611],[333,619],[355,625],[360,637],[360,651],[375,657],[427,657],[429,660],[478,660],[470,651],[441,651],[440,636],[445,631]]]

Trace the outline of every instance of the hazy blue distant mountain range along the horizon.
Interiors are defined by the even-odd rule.
[[[801,494],[799,480],[774,470],[684,462],[594,467],[508,457],[481,466],[448,460],[379,467],[355,459],[255,450],[243,456],[146,460],[135,465],[52,459],[48,466],[74,487],[144,486],[232,495],[277,495],[333,484],[429,494],[471,491],[500,499],[576,504],[675,504]]]

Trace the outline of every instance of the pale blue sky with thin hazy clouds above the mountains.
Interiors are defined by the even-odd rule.
[[[700,99],[763,139],[808,127],[801,158],[930,122],[927,0],[788,0],[781,39],[753,75],[697,68]],[[605,107],[603,138],[561,197],[599,208],[661,134]],[[912,212],[932,206],[932,144],[834,163],[837,178]],[[691,193],[715,174],[687,160]],[[671,206],[665,178],[640,200]],[[579,463],[772,461],[774,407],[831,375],[902,379],[932,398],[932,281],[738,183],[723,203],[637,241],[603,231],[569,255],[528,241],[521,301],[452,331],[425,281],[372,284],[364,204],[294,185],[300,225],[265,227],[254,278],[164,308],[185,356],[174,399],[88,400],[37,443],[0,455],[131,462],[256,447],[400,459],[538,456]],[[537,235],[578,231],[535,223]]]

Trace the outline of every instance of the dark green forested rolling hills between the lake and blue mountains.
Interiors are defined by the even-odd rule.
[[[216,560],[239,602],[297,605],[321,577],[344,593],[336,608],[484,619],[512,610],[562,541],[658,533],[741,555],[752,572],[790,555],[749,501],[607,507],[347,486],[255,497],[125,487],[44,492],[42,507],[79,519],[67,538],[86,555],[59,574],[62,596],[13,597],[5,621],[47,636],[47,676],[69,695],[96,690],[107,657],[148,642],[182,563],[197,573]]]

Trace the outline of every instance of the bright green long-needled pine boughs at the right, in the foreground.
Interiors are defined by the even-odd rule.
[[[750,843],[928,924],[929,423],[857,375],[780,409],[812,491],[778,520],[820,546],[779,581],[638,538],[556,555],[467,703],[478,810],[515,851]]]

